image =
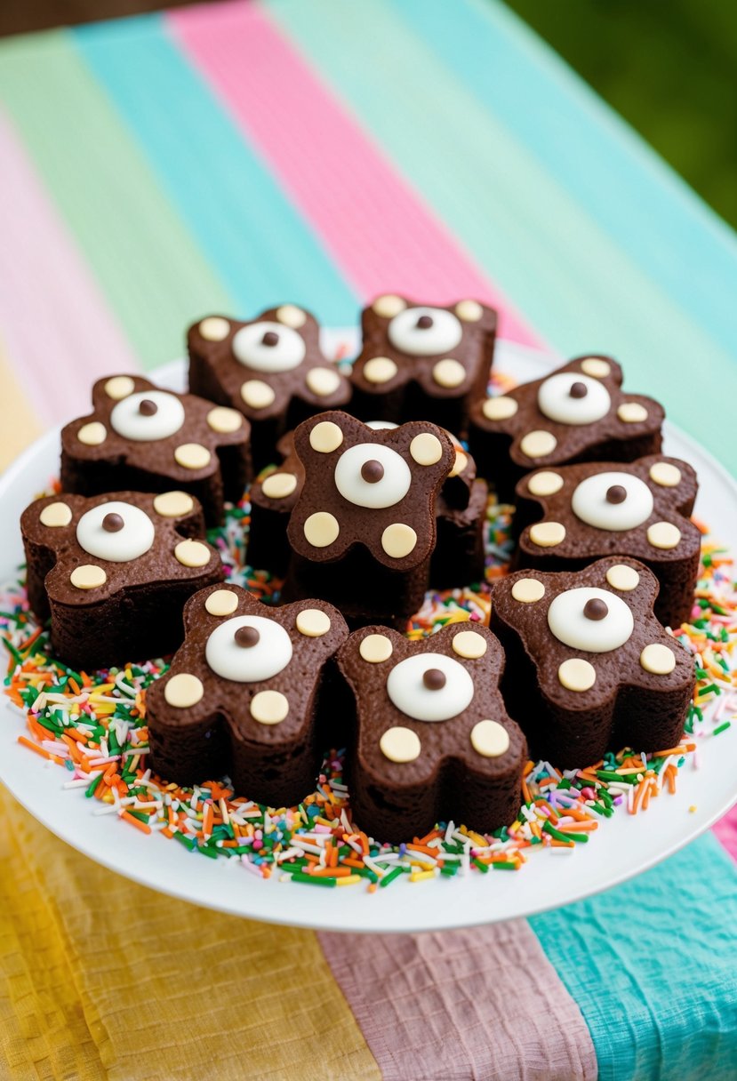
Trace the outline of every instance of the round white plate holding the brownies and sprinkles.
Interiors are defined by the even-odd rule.
[[[354,342],[352,332],[338,333]],[[331,338],[331,341],[334,341]],[[544,375],[555,361],[499,343],[497,366],[520,382]],[[184,381],[182,362],[157,377],[176,388]],[[714,536],[737,539],[737,485],[728,473],[685,435],[666,426],[666,451],[685,458],[699,475],[697,513]],[[0,480],[0,575],[12,576],[22,560],[18,517],[32,496],[58,469],[58,432],[38,440]],[[602,820],[586,846],[552,855],[535,851],[520,871],[435,879],[417,884],[402,880],[368,894],[360,885],[347,890],[311,890],[262,881],[236,860],[204,859],[158,836],[126,829],[115,816],[93,816],[83,790],[64,790],[58,766],[44,763],[16,742],[24,731],[21,713],[0,705],[0,779],[39,822],[91,859],[161,893],[236,916],[351,932],[415,932],[471,926],[531,916],[606,890],[671,855],[720,818],[737,800],[734,759],[737,725],[718,740],[705,739],[700,768],[679,774],[678,792],[651,804],[636,817],[616,813]],[[689,808],[696,810],[689,812]]]

